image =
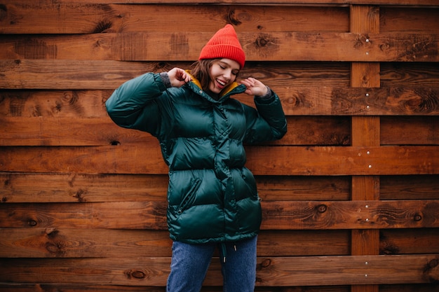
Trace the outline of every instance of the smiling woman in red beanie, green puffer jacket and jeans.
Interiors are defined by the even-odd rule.
[[[287,123],[275,92],[255,78],[236,82],[244,63],[234,27],[226,25],[192,71],[143,74],[106,102],[114,123],[158,139],[169,167],[169,292],[200,291],[217,247],[224,291],[255,287],[261,206],[244,145],[281,139]],[[243,92],[256,109],[231,98]]]

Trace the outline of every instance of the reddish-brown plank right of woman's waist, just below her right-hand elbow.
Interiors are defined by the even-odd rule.
[[[249,146],[248,167],[271,175],[438,174],[436,146]],[[290,158],[290,159],[285,159]]]

